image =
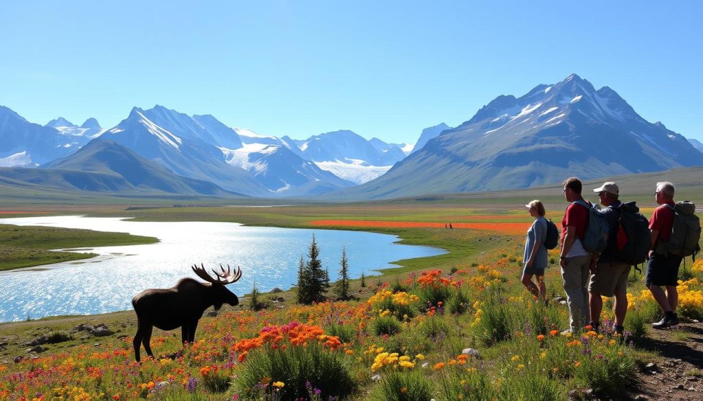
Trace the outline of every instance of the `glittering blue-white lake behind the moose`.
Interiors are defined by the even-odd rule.
[[[242,269],[242,278],[228,285],[236,294],[289,289],[297,282],[300,256],[307,254],[314,234],[330,280],[347,249],[349,276],[373,275],[391,262],[444,254],[430,246],[394,244],[398,237],[372,232],[245,227],[238,223],[155,223],[123,218],[45,216],[2,218],[2,224],[46,225],[129,232],[157,237],[156,244],[81,248],[99,254],[82,261],[0,272],[0,322],[27,317],[91,315],[131,309],[131,298],[148,288],[173,287],[181,277],[197,278],[191,265],[205,268],[227,263]],[[197,278],[197,280],[200,280]]]

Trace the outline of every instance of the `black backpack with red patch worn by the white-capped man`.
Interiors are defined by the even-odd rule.
[[[628,263],[639,265],[645,263],[650,251],[650,223],[640,213],[636,202],[627,202],[617,208],[620,211],[617,229],[616,257]]]

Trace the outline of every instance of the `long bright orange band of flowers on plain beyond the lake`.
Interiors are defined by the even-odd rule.
[[[378,228],[444,228],[444,222],[432,221],[368,221],[368,220],[315,220],[310,225],[346,225],[348,227]],[[470,228],[473,230],[490,230],[506,234],[527,232],[531,223],[451,223],[453,228]]]

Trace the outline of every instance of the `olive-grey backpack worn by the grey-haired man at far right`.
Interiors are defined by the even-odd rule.
[[[695,259],[700,251],[698,241],[701,238],[701,223],[696,216],[696,205],[690,201],[676,202],[676,206],[666,204],[673,209],[673,227],[671,237],[666,242],[666,252],[676,256],[692,256]]]

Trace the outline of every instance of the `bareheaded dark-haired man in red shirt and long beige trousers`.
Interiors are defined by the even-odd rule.
[[[588,224],[589,210],[581,196],[581,180],[567,178],[562,184],[564,197],[571,202],[562,219],[562,249],[559,265],[562,268],[562,283],[569,305],[569,329],[579,331],[590,317],[588,313],[588,276],[591,253],[583,249],[583,237]],[[581,202],[583,204],[577,204]],[[590,204],[590,202],[588,202]]]

